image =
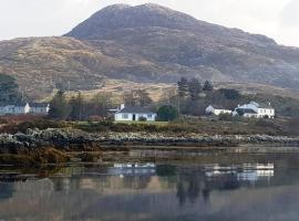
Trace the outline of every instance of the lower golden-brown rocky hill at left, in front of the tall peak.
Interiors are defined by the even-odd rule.
[[[0,73],[17,78],[34,98],[56,88],[92,90],[122,62],[72,38],[30,38],[0,42]]]

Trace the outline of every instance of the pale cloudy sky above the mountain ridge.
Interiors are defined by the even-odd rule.
[[[0,0],[0,40],[62,35],[106,6],[148,2],[299,46],[299,0]]]

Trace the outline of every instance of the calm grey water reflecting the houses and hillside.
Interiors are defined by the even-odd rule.
[[[1,221],[298,221],[298,154],[1,169]]]

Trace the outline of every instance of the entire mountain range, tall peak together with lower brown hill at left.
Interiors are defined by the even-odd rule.
[[[106,78],[173,83],[181,76],[297,88],[299,49],[161,7],[114,4],[64,36],[0,42],[0,74],[31,97],[94,90]]]

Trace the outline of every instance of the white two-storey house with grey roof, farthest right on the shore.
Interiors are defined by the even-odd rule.
[[[249,104],[245,104],[238,106],[234,113],[234,116],[239,115],[244,117],[255,117],[255,118],[274,118],[275,117],[275,108],[271,107],[271,104],[258,104],[256,102],[250,102]]]

